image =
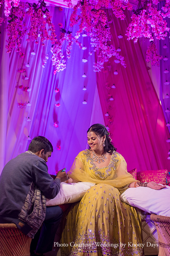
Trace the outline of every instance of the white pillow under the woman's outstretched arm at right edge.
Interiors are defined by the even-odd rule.
[[[149,213],[170,217],[170,187],[155,190],[149,187],[128,188],[120,199]]]

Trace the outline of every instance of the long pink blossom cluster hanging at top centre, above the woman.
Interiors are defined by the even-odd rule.
[[[79,30],[76,32],[76,38],[80,37],[80,33],[87,32],[90,37],[91,46],[94,52],[97,52],[97,61],[94,63],[94,71],[99,72],[104,67],[104,62],[115,56],[117,60],[126,67],[124,57],[119,55],[114,46],[110,43],[111,32],[108,26],[106,13],[102,7],[108,7],[108,0],[99,0],[95,6],[89,4],[87,0],[78,1],[73,7],[73,13],[70,17],[70,27],[80,23]],[[77,15],[78,8],[81,7],[80,15]]]

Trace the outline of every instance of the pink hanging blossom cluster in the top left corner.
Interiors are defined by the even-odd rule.
[[[30,27],[27,27],[24,22],[25,16],[30,16]],[[0,19],[0,25],[4,21],[3,18]],[[50,31],[51,35],[47,31]],[[41,37],[41,44],[44,45],[44,40],[51,40],[51,43],[57,41],[57,35],[55,34],[54,24],[51,22],[51,16],[46,8],[46,3],[44,0],[39,0],[38,4],[33,4],[31,6],[26,3],[25,6],[20,4],[18,7],[12,6],[11,14],[8,15],[8,25],[7,25],[7,53],[12,51],[12,48],[17,52],[21,52],[21,40],[25,35],[28,35],[28,42],[35,41],[38,44],[38,37]]]

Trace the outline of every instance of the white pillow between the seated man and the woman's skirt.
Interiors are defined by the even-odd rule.
[[[54,206],[54,205],[78,202],[83,198],[86,191],[93,186],[95,186],[95,183],[90,183],[90,182],[65,183],[65,182],[61,182],[59,193],[53,199],[47,199],[47,206]]]

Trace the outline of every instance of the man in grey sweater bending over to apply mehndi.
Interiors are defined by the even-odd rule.
[[[46,198],[54,198],[60,183],[68,179],[65,172],[59,171],[55,180],[48,174],[46,162],[52,152],[51,142],[37,136],[28,151],[6,164],[0,176],[0,223],[14,223],[34,238],[30,249],[32,255],[43,255],[52,250],[62,217],[59,206],[46,207]]]

